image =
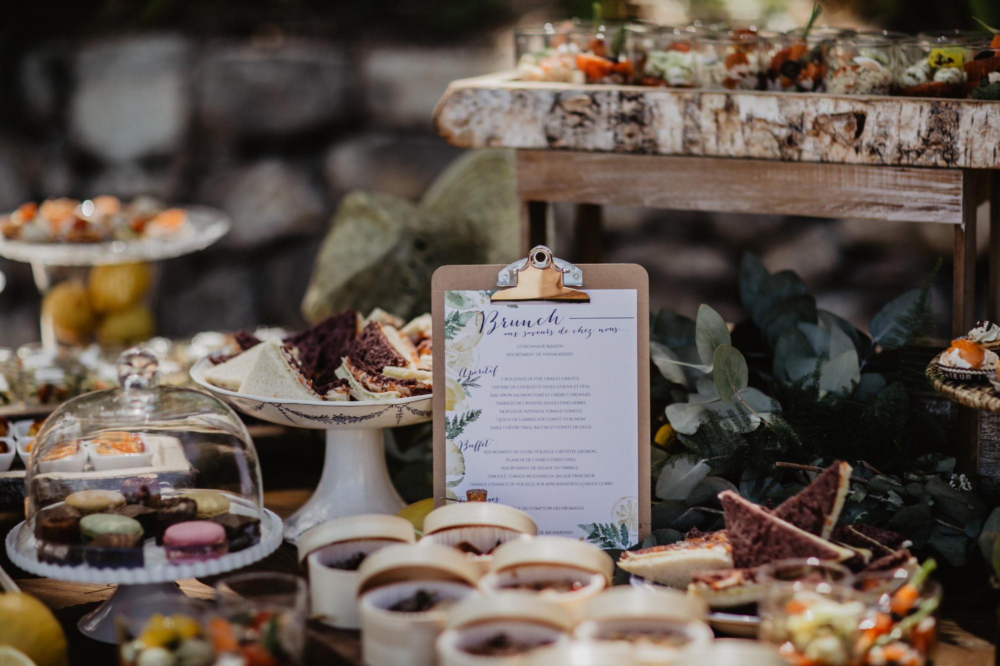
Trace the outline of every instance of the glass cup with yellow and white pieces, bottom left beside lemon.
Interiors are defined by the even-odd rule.
[[[122,666],[216,663],[209,607],[184,596],[154,594],[124,603],[115,617]]]

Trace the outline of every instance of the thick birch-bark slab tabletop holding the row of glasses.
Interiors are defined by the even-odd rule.
[[[1000,169],[1000,102],[515,79],[452,82],[440,134],[463,148]]]

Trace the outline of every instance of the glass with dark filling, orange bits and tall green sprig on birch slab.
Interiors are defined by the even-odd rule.
[[[786,33],[767,43],[764,82],[767,90],[823,92],[826,83],[826,52],[833,37],[814,30],[803,39]]]

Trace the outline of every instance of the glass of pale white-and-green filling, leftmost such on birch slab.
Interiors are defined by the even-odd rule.
[[[641,86],[694,88],[695,33],[684,28],[626,28],[633,82]]]

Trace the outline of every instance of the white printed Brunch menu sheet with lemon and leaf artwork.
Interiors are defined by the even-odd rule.
[[[482,488],[539,534],[598,530],[628,545],[640,518],[637,291],[584,291],[589,303],[444,292],[445,494]]]

